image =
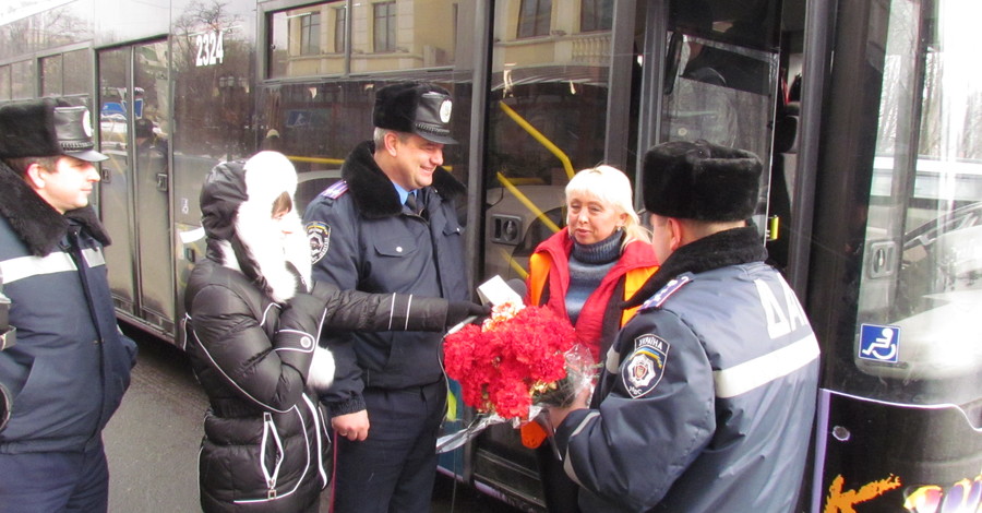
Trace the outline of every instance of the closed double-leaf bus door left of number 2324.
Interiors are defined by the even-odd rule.
[[[98,52],[103,151],[100,216],[118,311],[170,336],[175,327],[170,230],[167,41]]]

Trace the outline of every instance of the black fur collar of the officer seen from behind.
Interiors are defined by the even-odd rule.
[[[753,226],[733,228],[704,237],[675,250],[648,282],[635,295],[621,303],[622,308],[634,308],[645,302],[655,293],[682,273],[705,273],[715,269],[763,262],[767,250],[761,234]]]

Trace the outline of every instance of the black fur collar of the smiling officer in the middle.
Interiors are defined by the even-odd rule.
[[[399,194],[375,164],[374,152],[372,141],[356,146],[342,166],[342,178],[348,183],[348,192],[364,217],[376,219],[399,215],[403,212]],[[466,194],[464,184],[442,167],[433,174],[431,190],[435,190],[443,201],[460,200]],[[457,204],[463,203],[458,201]]]

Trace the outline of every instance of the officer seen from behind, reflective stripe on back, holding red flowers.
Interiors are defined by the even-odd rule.
[[[744,219],[761,162],[699,141],[649,150],[661,269],[591,407],[550,411],[585,512],[790,512],[815,414],[818,345]]]

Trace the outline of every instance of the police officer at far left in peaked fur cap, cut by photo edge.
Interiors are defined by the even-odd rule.
[[[0,351],[0,512],[107,510],[101,431],[136,346],[116,323],[88,206],[99,174],[88,109],[51,98],[0,107],[0,269],[16,344]]]

